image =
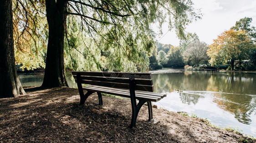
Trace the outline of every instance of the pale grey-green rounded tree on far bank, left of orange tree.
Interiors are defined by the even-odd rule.
[[[200,62],[207,60],[207,49],[208,46],[205,42],[197,41],[195,43],[190,43],[183,53],[184,60],[191,60],[195,63],[195,66],[198,67]]]

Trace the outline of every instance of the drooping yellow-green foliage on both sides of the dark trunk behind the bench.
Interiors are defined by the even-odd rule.
[[[14,2],[16,62],[27,69],[45,67],[48,38],[45,0]],[[135,68],[130,70],[137,70],[139,64],[154,60],[146,57],[154,48],[152,24],[159,24],[161,31],[162,24],[169,18],[169,28],[175,29],[183,39],[185,26],[200,18],[199,11],[192,6],[191,0],[69,0],[65,67],[67,70],[125,71],[125,65],[132,64]],[[167,53],[169,48],[163,50]],[[162,64],[157,60],[154,63]]]

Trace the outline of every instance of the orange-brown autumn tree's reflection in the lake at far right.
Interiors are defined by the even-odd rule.
[[[244,73],[228,73],[209,79],[208,90],[218,87],[222,93],[214,94],[213,102],[226,111],[234,114],[243,123],[251,123],[251,115],[256,114],[255,76]]]

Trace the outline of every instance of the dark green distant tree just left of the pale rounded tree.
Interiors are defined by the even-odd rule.
[[[184,67],[184,62],[179,47],[171,47],[168,52],[167,58],[168,67]]]

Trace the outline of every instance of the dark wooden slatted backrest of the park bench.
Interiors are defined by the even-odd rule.
[[[152,76],[148,72],[72,71],[72,75],[76,83],[77,76],[80,76],[83,84],[123,89],[129,89],[129,77],[132,76],[135,77],[135,90],[154,91]]]

